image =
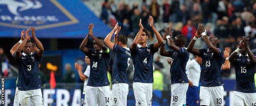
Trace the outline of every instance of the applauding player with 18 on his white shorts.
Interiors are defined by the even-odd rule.
[[[182,106],[186,104],[186,92],[188,88],[188,79],[185,73],[189,53],[184,48],[186,38],[184,35],[178,35],[171,40],[173,31],[169,27],[165,28],[163,39],[167,40],[171,51],[165,51],[165,44],[160,48],[160,55],[172,58],[171,64],[171,106]]]

